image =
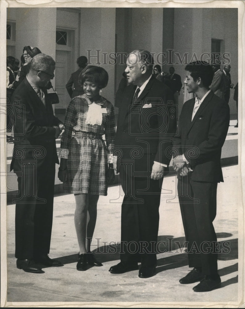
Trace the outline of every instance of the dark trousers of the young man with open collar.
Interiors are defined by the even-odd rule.
[[[216,274],[218,270],[217,237],[212,223],[216,193],[217,183],[192,181],[189,176],[178,181],[189,267],[201,267],[204,275]]]

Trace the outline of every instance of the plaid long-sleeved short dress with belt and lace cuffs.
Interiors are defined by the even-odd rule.
[[[63,184],[65,193],[107,195],[107,153],[113,153],[115,113],[113,105],[102,96],[95,103],[104,109],[101,125],[86,123],[91,101],[85,94],[73,98],[67,107],[66,131],[60,145],[60,157],[67,159],[69,173]]]

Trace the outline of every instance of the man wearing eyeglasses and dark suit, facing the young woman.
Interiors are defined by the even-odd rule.
[[[53,114],[45,86],[54,78],[55,61],[45,54],[33,57],[30,71],[12,95],[15,113],[14,150],[10,165],[18,176],[15,208],[17,268],[43,273],[44,266],[61,266],[49,258],[52,230],[56,138],[64,125]]]

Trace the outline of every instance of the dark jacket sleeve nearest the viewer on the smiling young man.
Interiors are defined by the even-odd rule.
[[[197,158],[190,159],[188,154],[186,152],[184,153],[185,158],[190,160],[191,165],[195,166],[196,164],[205,162],[207,159],[212,158],[213,155],[222,148],[228,132],[229,122],[229,105],[219,102],[214,108],[210,119],[208,137],[197,146],[199,149]]]

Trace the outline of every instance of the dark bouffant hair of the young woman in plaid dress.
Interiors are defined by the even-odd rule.
[[[100,89],[105,88],[108,83],[108,73],[101,66],[86,66],[79,75],[81,85],[85,81],[98,84]]]

